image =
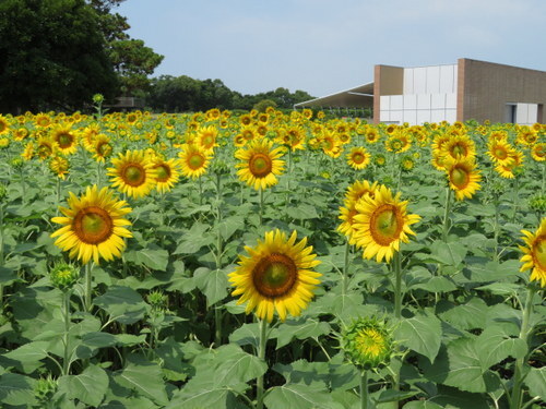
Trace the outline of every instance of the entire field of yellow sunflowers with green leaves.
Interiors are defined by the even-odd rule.
[[[0,116],[0,406],[546,399],[546,127]]]

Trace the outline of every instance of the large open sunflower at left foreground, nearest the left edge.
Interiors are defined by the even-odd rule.
[[[98,191],[96,185],[87,187],[85,194],[76,197],[72,192],[68,199],[69,207],[60,207],[64,216],[54,217],[52,222],[64,225],[51,237],[58,237],[55,244],[70,251],[71,258],[76,257],[83,264],[93,258],[98,264],[99,257],[106,261],[121,256],[126,248],[122,237],[132,237],[126,229],[131,222],[123,218],[130,207],[127,202],[114,197],[108,188]]]

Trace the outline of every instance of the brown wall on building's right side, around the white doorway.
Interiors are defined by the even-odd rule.
[[[505,122],[507,103],[546,105],[546,72],[458,60],[458,121]]]

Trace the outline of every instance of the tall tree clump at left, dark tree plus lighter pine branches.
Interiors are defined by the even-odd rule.
[[[124,0],[0,1],[0,111],[82,108],[144,89],[162,62],[112,9]]]

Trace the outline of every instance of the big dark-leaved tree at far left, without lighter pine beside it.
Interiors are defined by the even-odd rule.
[[[73,110],[118,89],[84,0],[2,0],[0,56],[0,111]]]

